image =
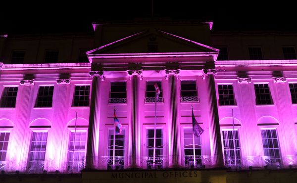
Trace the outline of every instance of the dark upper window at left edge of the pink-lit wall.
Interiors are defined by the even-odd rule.
[[[1,97],[1,107],[15,107],[18,87],[4,87]]]

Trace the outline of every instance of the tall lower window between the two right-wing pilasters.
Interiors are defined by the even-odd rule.
[[[281,156],[275,129],[261,130],[266,165],[280,168]]]

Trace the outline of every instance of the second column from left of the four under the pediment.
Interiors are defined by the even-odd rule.
[[[131,116],[129,121],[128,168],[140,167],[139,80],[142,70],[127,71],[131,79]]]

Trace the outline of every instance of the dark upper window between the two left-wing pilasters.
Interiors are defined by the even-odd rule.
[[[40,86],[35,107],[52,106],[53,86]]]

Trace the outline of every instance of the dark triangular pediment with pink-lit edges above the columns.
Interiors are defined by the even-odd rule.
[[[113,43],[88,51],[88,55],[117,54],[117,53],[179,53],[203,52],[214,53],[217,49],[185,38],[149,29]]]

